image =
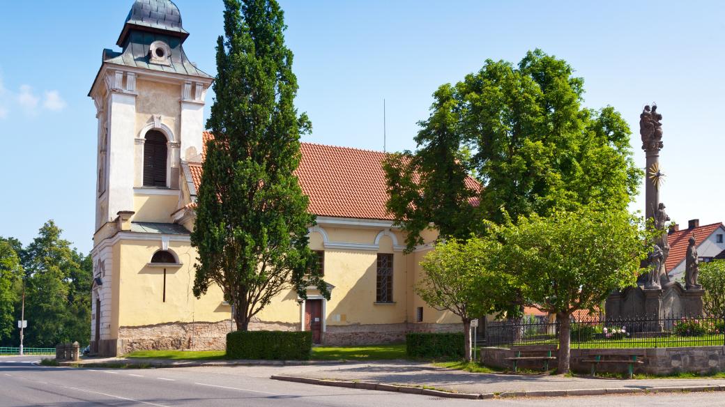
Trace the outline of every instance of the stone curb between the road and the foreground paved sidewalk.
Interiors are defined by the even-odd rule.
[[[700,385],[700,386],[669,386],[669,387],[619,387],[613,389],[572,389],[572,390],[531,390],[531,391],[508,391],[502,393],[451,393],[442,390],[424,389],[404,385],[387,385],[373,382],[349,382],[334,379],[312,379],[310,377],[280,376],[273,375],[273,380],[283,382],[305,383],[306,385],[322,385],[334,387],[348,387],[364,390],[381,390],[388,392],[410,393],[421,395],[434,395],[441,398],[468,398],[468,399],[489,399],[489,398],[520,398],[520,397],[568,397],[586,395],[613,395],[613,394],[645,394],[645,393],[695,393],[725,391],[725,385]]]

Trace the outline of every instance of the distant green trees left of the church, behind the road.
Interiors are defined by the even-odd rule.
[[[23,247],[0,237],[0,346],[20,344],[22,291],[25,286],[25,347],[52,347],[91,338],[93,264],[61,238],[49,220]]]

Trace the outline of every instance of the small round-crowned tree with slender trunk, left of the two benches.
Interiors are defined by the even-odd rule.
[[[490,238],[455,238],[436,244],[421,261],[415,293],[428,306],[451,311],[463,321],[465,359],[471,361],[471,320],[500,310],[511,298],[509,274],[492,267],[500,245]]]

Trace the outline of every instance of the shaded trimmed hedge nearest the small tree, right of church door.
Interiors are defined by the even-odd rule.
[[[405,351],[411,358],[463,358],[463,332],[411,332],[405,335]]]

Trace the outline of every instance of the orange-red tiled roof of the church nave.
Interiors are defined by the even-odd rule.
[[[204,132],[204,151],[214,136]],[[310,211],[318,216],[393,220],[386,210],[388,199],[381,151],[301,143],[302,159],[294,172],[302,191],[310,196]],[[196,190],[202,165],[189,163]],[[479,189],[472,178],[466,182]],[[476,201],[477,203],[477,201]],[[475,204],[475,203],[474,203]]]

